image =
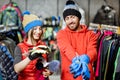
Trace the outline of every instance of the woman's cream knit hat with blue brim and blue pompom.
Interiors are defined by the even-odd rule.
[[[40,18],[34,14],[30,14],[29,11],[25,11],[23,13],[23,28],[24,31],[27,33],[30,29],[36,26],[42,26],[43,22],[40,20]]]

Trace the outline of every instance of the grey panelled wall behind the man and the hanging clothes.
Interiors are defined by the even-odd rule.
[[[43,18],[50,16],[60,16],[62,19],[62,11],[67,0],[0,0],[0,7],[4,4],[14,1],[18,4],[21,11],[29,10]],[[104,5],[104,0],[75,0],[78,5],[85,11],[86,24],[93,21],[97,10]],[[119,0],[106,0],[112,6],[119,19]]]

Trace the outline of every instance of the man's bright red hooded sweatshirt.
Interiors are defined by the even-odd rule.
[[[71,31],[66,26],[65,29],[57,33],[57,44],[61,54],[61,80],[82,80],[82,76],[74,79],[69,69],[76,52],[78,55],[87,54],[89,56],[90,80],[94,80],[92,64],[97,58],[96,43],[98,35],[87,30],[85,25],[80,26],[82,29],[78,32]]]

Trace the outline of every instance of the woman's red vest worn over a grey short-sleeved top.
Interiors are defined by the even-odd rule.
[[[43,44],[44,43],[42,41],[39,41],[37,45]],[[24,56],[24,53],[27,52],[29,48],[33,47],[32,45],[26,43],[26,39],[23,41],[23,43],[19,43],[18,46],[20,47],[22,52],[22,59],[26,58],[26,56]],[[20,72],[20,74],[18,75],[18,80],[38,80],[39,77],[41,77],[40,80],[45,80],[42,75],[42,71],[38,71],[36,69],[36,62],[37,59],[31,61],[29,65],[27,65],[27,67],[22,72]]]

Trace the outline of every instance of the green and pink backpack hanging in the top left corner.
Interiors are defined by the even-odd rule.
[[[0,9],[0,24],[6,30],[22,29],[22,14],[16,3],[9,3]]]

